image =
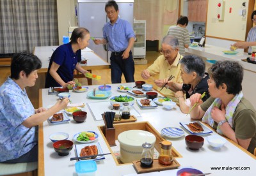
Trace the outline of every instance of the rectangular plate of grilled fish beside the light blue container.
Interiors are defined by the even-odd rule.
[[[82,151],[82,152],[81,152]],[[77,157],[80,156],[90,156],[96,154],[103,154],[102,149],[100,147],[100,143],[86,143],[86,144],[77,144],[76,145],[76,154]],[[105,159],[105,156],[97,156],[96,158],[91,158],[94,161]],[[79,161],[83,161],[84,159],[78,159]],[[86,159],[88,160],[88,159]]]

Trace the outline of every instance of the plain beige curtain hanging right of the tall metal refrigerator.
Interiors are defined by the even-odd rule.
[[[146,40],[161,40],[163,26],[177,22],[178,0],[134,0],[134,18],[147,21]]]

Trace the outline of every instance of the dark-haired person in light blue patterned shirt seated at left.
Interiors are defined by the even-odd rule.
[[[27,52],[12,58],[11,76],[0,87],[0,162],[37,161],[36,126],[68,104],[64,99],[49,110],[33,107],[25,87],[35,85],[41,66],[40,59]]]

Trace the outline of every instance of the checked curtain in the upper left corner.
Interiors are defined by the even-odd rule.
[[[0,1],[0,53],[58,45],[56,0]]]

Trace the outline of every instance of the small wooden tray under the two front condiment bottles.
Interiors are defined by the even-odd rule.
[[[147,172],[157,172],[161,170],[170,170],[175,169],[180,166],[178,161],[176,159],[173,159],[173,163],[170,166],[163,166],[158,163],[158,159],[153,160],[153,166],[151,168],[141,168],[140,161],[132,161],[132,164],[136,170],[137,173],[147,173]]]

